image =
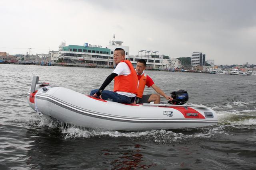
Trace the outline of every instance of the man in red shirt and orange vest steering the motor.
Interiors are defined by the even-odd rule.
[[[142,103],[150,103],[151,101],[154,101],[154,104],[159,104],[160,95],[166,98],[167,100],[172,101],[173,98],[171,98],[170,96],[167,96],[158,86],[154,84],[150,76],[144,73],[145,69],[146,69],[146,61],[143,59],[138,60],[136,65],[136,72],[137,72],[139,82],[138,82],[138,94],[136,98],[136,103],[142,104]],[[143,91],[146,85],[148,87],[152,87],[158,94],[143,95]]]

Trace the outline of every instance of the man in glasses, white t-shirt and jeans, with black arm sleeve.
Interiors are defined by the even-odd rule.
[[[136,71],[132,63],[125,60],[124,49],[116,48],[113,58],[114,63],[117,64],[116,68],[106,78],[100,89],[92,90],[90,95],[113,102],[131,104],[138,94],[138,78]],[[114,92],[104,90],[113,79],[115,79]]]

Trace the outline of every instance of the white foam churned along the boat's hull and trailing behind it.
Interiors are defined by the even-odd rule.
[[[252,103],[252,102],[250,102]],[[198,104],[191,104],[198,105]],[[200,105],[204,106],[204,105]],[[79,127],[76,125],[71,125],[58,121],[57,119],[43,115],[40,123],[40,127],[50,127],[52,129],[60,129],[64,138],[93,138],[93,137],[128,137],[130,139],[139,139],[144,141],[153,141],[155,143],[172,143],[180,142],[191,138],[210,138],[215,134],[225,133],[226,126],[232,127],[244,127],[244,126],[254,126],[256,125],[256,110],[246,109],[243,111],[238,110],[227,110],[224,108],[232,108],[230,104],[222,106],[215,105],[220,110],[216,111],[219,119],[219,123],[216,126],[202,127],[202,128],[190,128],[182,130],[150,130],[150,131],[110,131],[106,129],[92,129]],[[253,129],[255,127],[252,127]],[[193,131],[193,133],[188,134],[188,131]],[[227,134],[228,135],[228,134]]]

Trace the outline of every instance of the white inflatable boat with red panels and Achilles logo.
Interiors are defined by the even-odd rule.
[[[39,83],[34,76],[28,104],[36,112],[66,123],[122,131],[204,127],[218,123],[211,108],[173,104],[121,104]]]

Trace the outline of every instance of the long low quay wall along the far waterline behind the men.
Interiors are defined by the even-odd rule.
[[[37,65],[37,66],[48,66],[47,64],[40,64],[40,63],[14,63],[14,62],[0,62],[0,64],[18,64],[18,65]],[[86,67],[86,68],[109,68],[114,69],[114,67],[107,67],[107,66],[85,66],[85,65],[74,65],[74,64],[51,64],[50,66],[66,66],[66,67]],[[168,70],[160,70],[160,69],[146,69],[150,71],[166,71],[166,72],[172,72]],[[206,73],[211,74],[210,72],[197,72],[197,71],[181,71],[181,70],[175,70],[174,72],[190,72],[190,73]]]

